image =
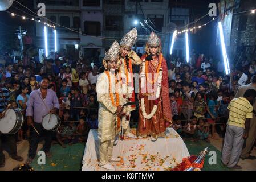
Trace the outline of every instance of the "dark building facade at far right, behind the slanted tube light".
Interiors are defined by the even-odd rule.
[[[220,18],[224,27],[224,37],[230,60],[237,62],[255,59],[256,47],[256,9],[255,1],[221,1]],[[239,13],[249,11],[245,13]],[[243,48],[242,48],[243,47]],[[241,49],[244,51],[241,52]]]

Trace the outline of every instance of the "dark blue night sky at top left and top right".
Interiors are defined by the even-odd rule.
[[[32,0],[17,0],[21,2],[23,5],[29,7],[29,9],[34,10],[33,7],[33,1]],[[205,15],[208,13],[209,3],[218,3],[220,0],[169,0],[169,7],[185,7],[190,9],[190,22],[193,20],[200,18],[202,15]],[[26,15],[27,17],[32,18],[32,16],[27,15],[23,13],[22,11],[25,11],[26,13],[32,14],[29,10],[26,10],[24,7],[19,5],[17,2],[13,3],[13,6],[8,9],[8,11],[17,13],[19,15]],[[34,10],[36,11],[36,10]],[[200,24],[208,22],[210,19],[209,16],[202,19]],[[206,52],[208,51],[208,47],[210,44],[215,43],[216,40],[216,24],[217,21],[210,23],[208,26],[202,28],[200,31],[198,31],[196,34],[193,34],[190,36],[191,42],[193,44],[191,45],[191,48],[196,48],[198,52]],[[194,24],[195,26],[198,26],[199,24]],[[22,20],[19,17],[11,17],[9,13],[6,13],[5,11],[0,11],[0,41],[2,42],[9,42],[13,43],[13,36],[15,33],[15,30],[18,30],[18,27],[22,26],[23,30],[27,30],[30,34],[35,33],[35,26],[34,23],[31,20]],[[11,42],[12,40],[12,42]]]

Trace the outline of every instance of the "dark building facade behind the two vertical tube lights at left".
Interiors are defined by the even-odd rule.
[[[77,46],[80,44],[80,1],[47,1],[34,0],[34,8],[37,9],[38,3],[46,5],[46,18],[39,18],[48,24],[55,24],[58,31],[58,52],[64,51],[68,55],[77,58],[79,55]],[[58,26],[58,24],[60,26]],[[44,49],[44,24],[36,23],[36,40],[40,49]],[[54,52],[54,33],[53,28],[47,27],[48,32],[48,51]]]

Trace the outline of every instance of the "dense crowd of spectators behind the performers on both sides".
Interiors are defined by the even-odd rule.
[[[62,124],[55,132],[56,142],[63,147],[86,143],[90,129],[97,129],[98,67],[93,59],[55,56],[51,53],[41,63],[36,55],[25,54],[23,59],[15,61],[4,53],[1,55],[4,62],[0,64],[1,88],[8,90],[11,107],[25,115],[30,93],[39,89],[40,81],[47,76],[49,89],[56,92],[60,104]],[[230,64],[230,75],[225,75],[224,64],[213,56],[194,54],[191,63],[185,62],[182,57],[168,59],[172,127],[182,137],[193,140],[210,142],[210,139],[224,137],[229,102],[239,86],[250,83],[256,73],[256,60],[244,57],[239,66]],[[131,127],[137,126],[136,112],[132,114]],[[17,140],[29,139],[30,131],[25,122],[17,133]]]

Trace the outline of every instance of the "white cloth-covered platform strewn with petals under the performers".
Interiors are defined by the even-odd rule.
[[[136,133],[132,129],[132,133]],[[113,166],[120,171],[147,171],[165,170],[168,167],[175,167],[182,162],[182,158],[188,157],[189,152],[180,135],[172,128],[166,130],[166,137],[159,138],[156,142],[151,139],[130,139],[119,140],[113,147],[113,156],[120,157],[121,162],[112,162]],[[99,140],[97,130],[90,130],[86,148],[83,156],[83,171],[104,170],[98,165]]]

